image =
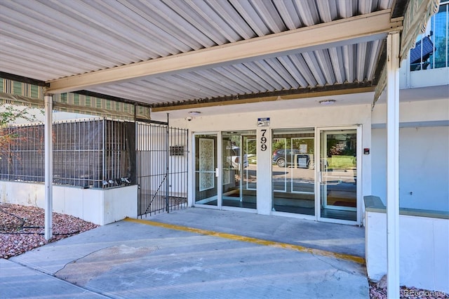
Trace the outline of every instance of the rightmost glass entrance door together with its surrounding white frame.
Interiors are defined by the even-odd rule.
[[[319,136],[316,148],[319,152],[317,158],[320,161],[317,169],[319,184],[316,184],[318,220],[345,224],[360,223],[361,181],[358,178],[361,175],[361,126],[317,128],[316,135]],[[348,135],[351,135],[350,138]],[[330,140],[329,136],[332,136]],[[348,142],[352,144],[348,145]],[[351,155],[348,156],[348,152],[355,154],[355,157],[349,157]],[[334,202],[340,197],[340,203]],[[349,200],[345,197],[353,198]],[[333,201],[333,204],[328,204],[329,200]],[[354,204],[355,206],[351,206]]]

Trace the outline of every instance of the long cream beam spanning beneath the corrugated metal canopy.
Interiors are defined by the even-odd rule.
[[[321,48],[383,39],[388,32],[401,29],[402,20],[390,19],[390,10],[269,34],[232,44],[164,58],[102,69],[96,72],[48,81],[51,93],[79,91],[94,86],[142,79],[155,74],[170,74],[245,62],[249,60],[314,51]]]

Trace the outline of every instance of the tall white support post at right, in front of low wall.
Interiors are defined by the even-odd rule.
[[[399,33],[387,36],[387,295],[399,298]]]

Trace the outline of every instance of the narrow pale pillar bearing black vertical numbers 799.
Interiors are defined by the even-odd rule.
[[[257,128],[257,213],[272,213],[272,130]]]

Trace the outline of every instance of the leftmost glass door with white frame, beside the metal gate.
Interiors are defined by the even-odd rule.
[[[217,206],[217,135],[195,135],[195,204]]]

